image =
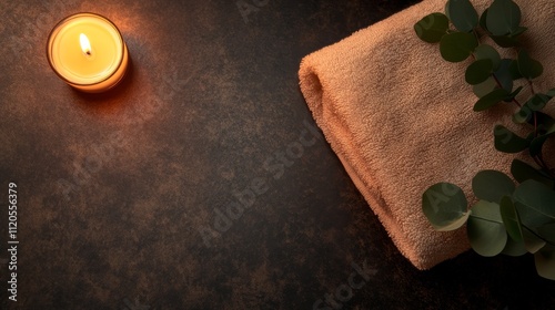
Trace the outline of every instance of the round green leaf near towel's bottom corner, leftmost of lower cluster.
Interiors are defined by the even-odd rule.
[[[422,210],[440,231],[457,229],[466,223],[467,206],[463,190],[451,183],[434,184],[422,195]]]

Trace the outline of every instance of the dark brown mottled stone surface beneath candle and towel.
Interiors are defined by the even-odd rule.
[[[310,130],[302,56],[415,1],[245,0],[245,18],[236,2],[0,2],[2,309],[312,309],[329,293],[336,309],[553,309],[531,256],[417,271]],[[79,11],[128,43],[111,93],[48,65],[48,33]]]

